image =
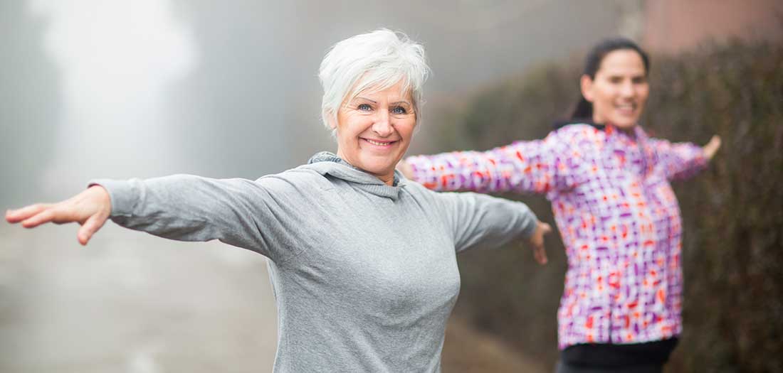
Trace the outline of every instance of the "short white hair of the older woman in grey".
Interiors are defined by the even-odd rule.
[[[336,124],[343,102],[367,88],[382,91],[400,81],[402,91],[410,91],[418,123],[419,107],[424,103],[421,88],[428,73],[424,47],[402,32],[380,29],[340,41],[323,57],[319,69],[323,125],[330,129],[330,120]]]

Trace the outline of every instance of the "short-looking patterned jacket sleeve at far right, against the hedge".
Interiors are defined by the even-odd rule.
[[[657,162],[670,181],[691,178],[707,166],[704,150],[691,142],[672,143],[650,138],[648,143],[655,149]]]

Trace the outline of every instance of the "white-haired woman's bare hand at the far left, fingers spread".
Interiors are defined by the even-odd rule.
[[[77,238],[81,245],[87,245],[111,213],[111,199],[100,185],[93,185],[84,192],[59,203],[37,203],[18,210],[5,212],[9,223],[21,223],[24,228],[35,228],[45,223],[81,224]]]

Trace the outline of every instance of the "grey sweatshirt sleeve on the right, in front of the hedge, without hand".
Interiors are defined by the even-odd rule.
[[[476,193],[438,193],[457,253],[480,246],[496,248],[528,238],[538,219],[527,205]]]

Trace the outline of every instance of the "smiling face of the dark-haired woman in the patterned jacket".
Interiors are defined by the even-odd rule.
[[[595,79],[583,75],[581,85],[585,99],[593,103],[594,122],[623,130],[637,124],[650,92],[644,61],[633,49],[609,52]]]

